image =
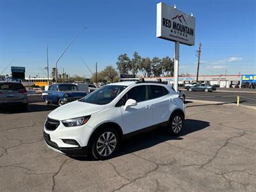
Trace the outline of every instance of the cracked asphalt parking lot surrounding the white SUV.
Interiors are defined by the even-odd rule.
[[[189,102],[184,131],[124,141],[108,161],[67,157],[44,144],[56,106],[0,113],[0,191],[255,191],[255,109]]]

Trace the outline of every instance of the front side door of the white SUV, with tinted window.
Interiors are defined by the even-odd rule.
[[[128,99],[134,99],[136,106],[130,106],[124,110],[124,104]],[[152,121],[152,101],[148,100],[148,88],[146,85],[138,85],[131,88],[120,100],[124,134],[150,127]]]

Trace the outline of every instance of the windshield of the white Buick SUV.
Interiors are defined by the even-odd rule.
[[[108,104],[113,99],[115,99],[116,96],[119,95],[126,87],[127,86],[122,85],[102,86],[102,88],[95,90],[79,101],[99,105]]]

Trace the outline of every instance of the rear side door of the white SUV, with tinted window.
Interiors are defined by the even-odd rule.
[[[150,85],[149,87],[153,124],[167,122],[170,118],[170,103],[172,102],[168,90],[160,85]]]

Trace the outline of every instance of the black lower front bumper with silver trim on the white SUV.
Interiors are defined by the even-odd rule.
[[[88,147],[81,147],[79,144],[78,147],[59,147],[57,143],[51,141],[50,134],[47,134],[44,131],[44,141],[47,147],[51,148],[56,152],[60,152],[61,154],[65,154],[67,156],[87,156],[88,155]]]

